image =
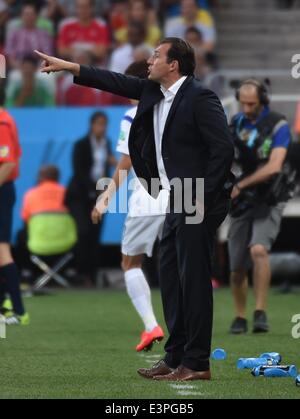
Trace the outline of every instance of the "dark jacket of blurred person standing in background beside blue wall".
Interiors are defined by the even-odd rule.
[[[107,153],[110,155],[110,148],[107,142]],[[79,140],[73,150],[73,176],[67,189],[66,203],[74,200],[83,202],[95,201],[97,198],[96,184],[91,179],[91,168],[93,166],[93,150],[90,136]],[[108,176],[109,165],[107,163],[104,176]]]

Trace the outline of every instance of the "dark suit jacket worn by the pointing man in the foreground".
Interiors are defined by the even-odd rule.
[[[163,99],[159,84],[85,66],[74,82],[139,100],[129,150],[137,176],[151,191],[151,179],[159,177],[153,127],[154,105]],[[168,178],[204,178],[205,205],[211,206],[231,176],[233,156],[233,140],[218,97],[188,77],[172,104],[162,140]],[[151,194],[157,197],[158,191]]]

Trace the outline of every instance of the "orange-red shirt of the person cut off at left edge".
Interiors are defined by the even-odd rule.
[[[19,176],[21,154],[16,123],[6,110],[2,110],[0,111],[0,164],[16,164],[6,182],[11,182]]]

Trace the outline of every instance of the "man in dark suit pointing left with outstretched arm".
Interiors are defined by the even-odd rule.
[[[159,188],[151,189],[153,179],[171,189],[175,203],[178,199],[170,184],[175,178],[191,179],[187,192],[197,203],[195,217],[203,215],[205,208],[204,219],[188,223],[185,211],[178,213],[173,205],[167,214],[160,281],[170,337],[165,358],[138,373],[157,380],[209,380],[212,248],[216,230],[228,212],[234,151],[219,99],[193,76],[194,51],[181,39],[165,39],[149,60],[145,80],[40,56],[43,72],[68,70],[75,83],[140,101],[129,138],[130,156],[137,176],[145,180],[154,197]],[[198,202],[195,192],[196,180],[201,178],[205,204]]]

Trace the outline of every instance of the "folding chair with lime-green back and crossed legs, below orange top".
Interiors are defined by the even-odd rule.
[[[68,213],[36,214],[28,223],[28,249],[31,261],[39,267],[44,275],[38,278],[33,289],[38,290],[51,279],[65,288],[68,281],[59,274],[74,257],[71,252],[77,243],[77,229],[73,217]],[[43,257],[60,256],[58,262],[50,267]]]

